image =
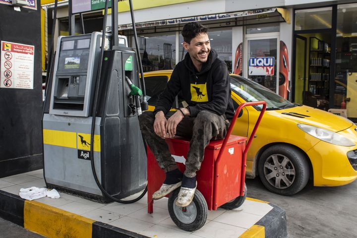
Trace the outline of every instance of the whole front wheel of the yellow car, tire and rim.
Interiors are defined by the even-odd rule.
[[[258,162],[259,177],[268,190],[290,196],[305,187],[309,165],[304,154],[293,146],[274,145]]]

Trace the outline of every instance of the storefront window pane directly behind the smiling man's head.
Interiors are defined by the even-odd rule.
[[[214,49],[219,58],[227,63],[228,70],[232,72],[232,30],[222,31],[209,31],[208,37],[210,38],[211,49]],[[183,37],[179,34],[179,60],[183,59],[186,51],[182,54]]]

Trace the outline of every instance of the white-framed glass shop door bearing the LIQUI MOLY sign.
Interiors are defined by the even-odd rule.
[[[279,93],[279,33],[249,34],[245,38],[244,76]]]

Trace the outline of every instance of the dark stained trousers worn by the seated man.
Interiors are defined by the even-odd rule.
[[[165,115],[166,119],[173,114],[174,112],[169,112]],[[155,134],[154,121],[153,112],[144,112],[139,117],[141,132],[161,169],[165,172],[175,170],[178,168],[175,159],[172,157],[165,139]],[[196,176],[196,171],[201,168],[204,149],[211,139],[223,139],[229,124],[225,116],[218,116],[207,111],[198,113],[197,117],[185,117],[182,119],[176,128],[176,135],[191,138],[185,163],[186,170],[184,175],[186,177],[192,178]]]

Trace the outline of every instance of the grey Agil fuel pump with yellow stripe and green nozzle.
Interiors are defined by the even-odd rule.
[[[126,37],[118,36],[117,14],[112,34],[106,34],[107,10],[108,0],[103,33],[58,40],[44,106],[44,178],[48,187],[128,203],[146,191],[146,152],[137,117],[147,102],[138,47],[135,52]],[[118,11],[116,1],[112,10]],[[121,200],[143,190],[137,199]]]

